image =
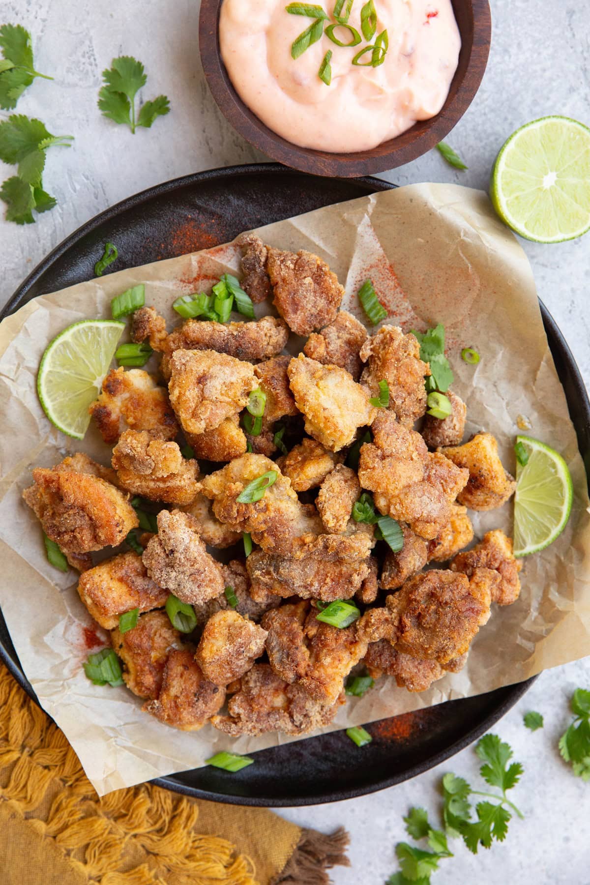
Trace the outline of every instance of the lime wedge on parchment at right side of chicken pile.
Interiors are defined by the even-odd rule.
[[[517,436],[528,455],[517,462],[514,498],[514,555],[543,550],[561,535],[570,519],[573,489],[568,466],[559,452],[531,436]]]

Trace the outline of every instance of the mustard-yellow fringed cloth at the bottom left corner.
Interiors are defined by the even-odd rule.
[[[99,799],[0,665],[0,885],[325,885],[348,841],[149,783]]]

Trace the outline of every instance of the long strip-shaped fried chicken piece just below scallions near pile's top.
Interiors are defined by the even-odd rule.
[[[270,359],[285,347],[288,336],[287,323],[277,317],[263,317],[244,323],[187,319],[168,335],[162,374],[166,380],[170,378],[175,350],[215,350],[241,360]]]

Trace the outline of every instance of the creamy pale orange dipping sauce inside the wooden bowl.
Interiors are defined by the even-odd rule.
[[[451,0],[374,0],[376,35],[387,28],[383,64],[351,64],[367,41],[341,47],[324,35],[299,58],[291,44],[313,19],[290,15],[288,0],[224,0],[219,19],[221,55],[241,99],[287,141],[336,152],[370,150],[417,120],[437,114],[456,71],[461,38]],[[333,23],[334,0],[317,2]],[[349,25],[362,36],[355,0]],[[349,42],[350,34],[334,35]],[[372,38],[371,43],[374,42]],[[332,50],[332,82],[318,70]],[[369,60],[367,53],[364,60]]]

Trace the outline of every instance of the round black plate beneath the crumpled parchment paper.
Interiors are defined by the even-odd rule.
[[[168,181],[80,227],[27,277],[0,318],[34,296],[90,279],[105,240],[119,247],[119,259],[110,268],[115,271],[227,242],[250,227],[390,187],[375,178],[314,178],[273,164],[235,166]],[[587,465],[586,389],[563,336],[540,306]],[[0,657],[34,697],[1,613]],[[205,767],[156,783],[195,797],[250,805],[318,804],[362,796],[405,781],[462,750],[510,710],[532,682],[372,723],[368,730],[373,741],[362,753],[343,732],[333,732],[263,750],[256,754],[256,765],[240,773]]]

